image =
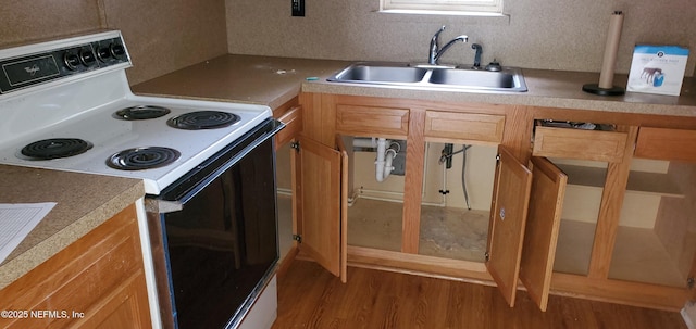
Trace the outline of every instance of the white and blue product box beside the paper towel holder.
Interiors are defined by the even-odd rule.
[[[679,96],[687,59],[685,47],[636,45],[626,90]]]

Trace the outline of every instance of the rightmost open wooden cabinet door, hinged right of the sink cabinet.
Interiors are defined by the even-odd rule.
[[[532,157],[532,176],[520,280],[546,311],[568,176],[545,157]]]

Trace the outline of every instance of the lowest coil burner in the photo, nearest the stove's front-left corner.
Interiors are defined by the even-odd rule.
[[[134,148],[111,155],[107,165],[119,170],[151,169],[169,165],[179,155],[178,151],[170,148]]]

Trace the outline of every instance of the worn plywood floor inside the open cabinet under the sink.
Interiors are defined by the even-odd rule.
[[[348,208],[348,244],[401,250],[403,204],[358,199]],[[419,253],[483,262],[489,212],[422,206]]]

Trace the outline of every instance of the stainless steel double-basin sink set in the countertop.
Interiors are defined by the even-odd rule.
[[[451,66],[418,66],[408,63],[360,62],[339,71],[327,80],[423,89],[448,88],[476,92],[527,91],[522,71],[505,66],[500,71],[485,71]]]

